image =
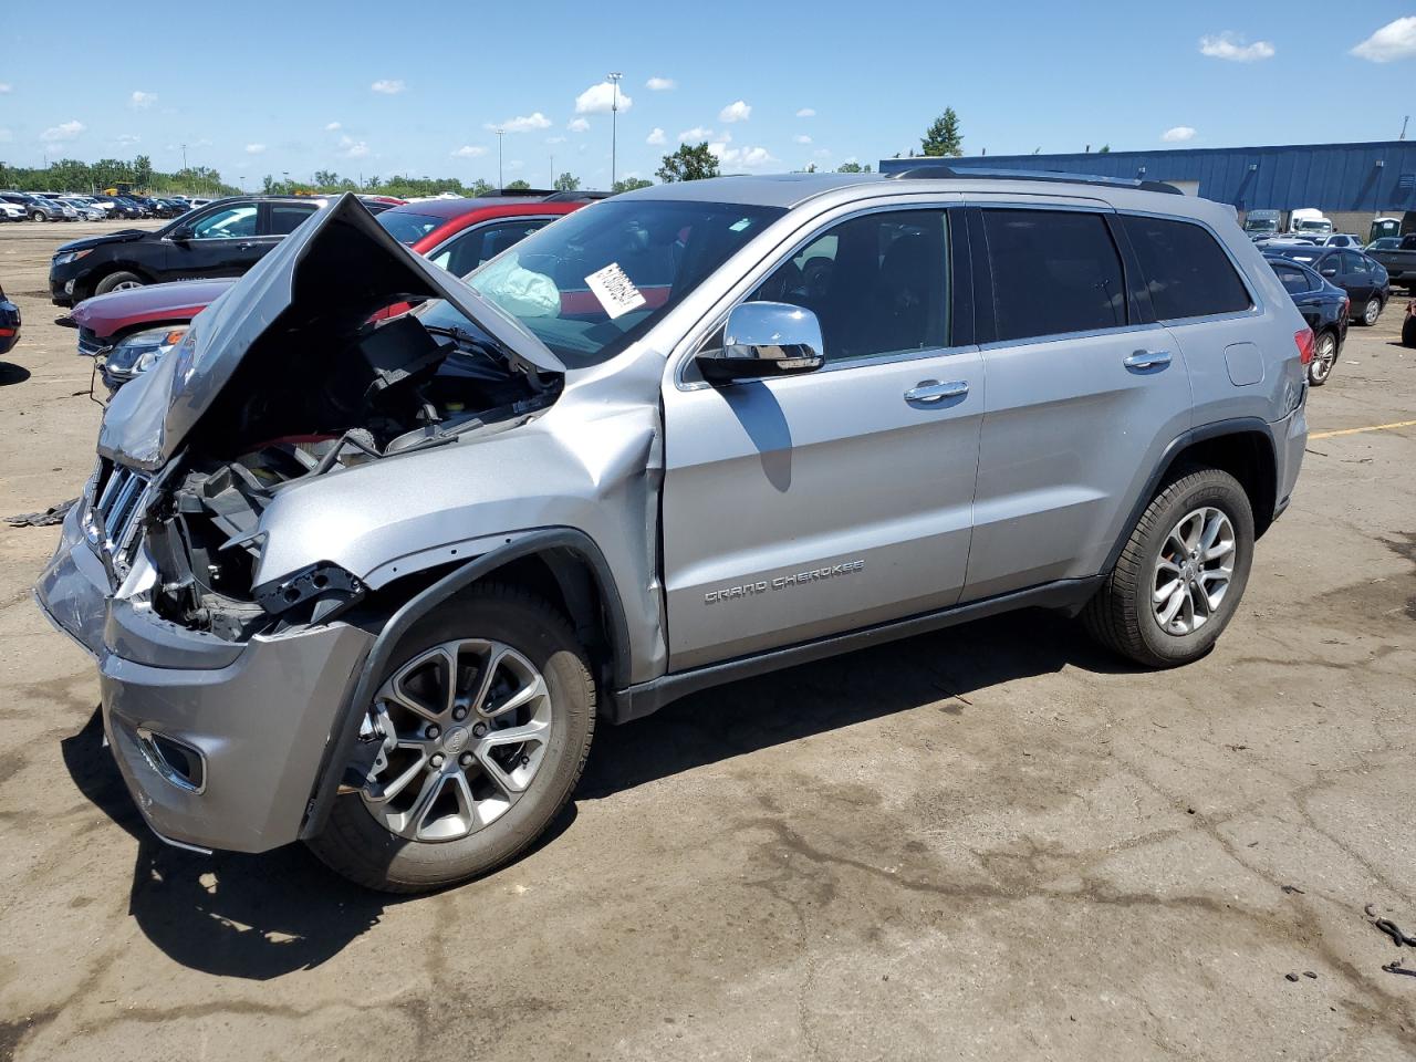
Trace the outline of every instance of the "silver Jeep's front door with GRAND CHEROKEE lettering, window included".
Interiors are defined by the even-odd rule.
[[[670,670],[959,599],[984,379],[971,314],[956,320],[956,217],[847,218],[750,296],[817,314],[817,372],[666,384]]]

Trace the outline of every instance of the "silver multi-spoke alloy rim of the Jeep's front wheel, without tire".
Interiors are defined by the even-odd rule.
[[[504,816],[535,780],[551,738],[551,692],[521,653],[462,639],[404,664],[374,697],[382,736],[364,807],[411,841],[456,841]]]

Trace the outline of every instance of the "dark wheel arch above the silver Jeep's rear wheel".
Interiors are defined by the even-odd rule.
[[[1116,566],[1146,506],[1187,466],[1219,469],[1239,480],[1253,510],[1255,538],[1260,538],[1273,524],[1279,500],[1279,462],[1269,425],[1256,416],[1204,425],[1185,432],[1165,449],[1146,489],[1134,500],[1130,518],[1121,527],[1103,572]]]

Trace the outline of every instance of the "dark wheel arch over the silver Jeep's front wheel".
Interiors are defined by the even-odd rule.
[[[493,578],[528,586],[562,609],[576,636],[590,649],[599,677],[610,681],[615,688],[629,684],[630,639],[624,606],[609,562],[583,531],[531,531],[481,556],[443,569],[433,582],[423,583],[411,595],[399,593],[391,599],[399,603],[392,606],[379,624],[354,690],[334,722],[333,739],[326,742],[300,837],[313,837],[324,828],[338,790],[340,765],[348,760],[358,736],[360,707],[372,698],[378,678],[404,634],[418,620]]]

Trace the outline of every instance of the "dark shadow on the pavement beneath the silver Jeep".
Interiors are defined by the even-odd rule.
[[[1020,612],[733,683],[627,726],[600,728],[575,800],[936,701],[969,711],[959,698],[974,690],[1065,666],[1129,670],[1078,624]],[[252,980],[309,970],[377,926],[387,908],[416,901],[351,885],[299,844],[263,855],[163,844],[103,748],[99,709],[62,741],[62,756],[79,792],[137,841],[129,913],[153,944],[193,970]],[[535,848],[571,827],[575,800]]]

